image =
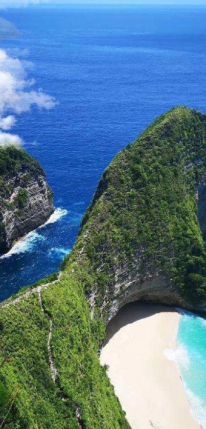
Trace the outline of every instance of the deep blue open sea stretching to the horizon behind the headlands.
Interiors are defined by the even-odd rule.
[[[2,16],[22,37],[1,47],[28,49],[28,77],[59,102],[32,107],[13,132],[63,212],[0,259],[0,299],[58,269],[103,170],[157,115],[177,104],[206,111],[204,7],[31,7]]]

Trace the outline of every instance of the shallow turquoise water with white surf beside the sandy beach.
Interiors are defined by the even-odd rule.
[[[176,361],[192,412],[205,429],[206,320],[188,311],[181,311],[181,314]]]

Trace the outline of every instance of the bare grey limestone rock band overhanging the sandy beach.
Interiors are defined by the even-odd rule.
[[[98,286],[96,287],[87,296],[92,319],[97,302],[99,303]],[[152,262],[145,261],[142,265],[139,256],[132,267],[127,262],[116,267],[115,281],[110,287],[110,290],[105,290],[101,305],[101,314],[104,315],[106,325],[124,305],[134,301],[181,307],[202,314],[206,312],[205,300],[193,302],[182,295],[181,291],[174,287],[170,276],[156,269]]]

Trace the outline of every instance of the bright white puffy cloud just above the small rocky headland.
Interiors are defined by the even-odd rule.
[[[34,79],[27,79],[26,69],[31,63],[14,58],[0,49],[0,144],[21,144],[22,140],[15,135],[5,133],[15,125],[16,119],[11,112],[21,114],[30,110],[32,105],[50,109],[55,106],[54,98],[45,94],[42,89],[31,89]],[[9,113],[8,116],[5,116]]]

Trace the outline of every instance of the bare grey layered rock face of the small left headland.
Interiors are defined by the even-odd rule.
[[[2,252],[11,249],[18,239],[42,225],[54,212],[53,194],[43,169],[25,164],[3,176],[6,192],[3,191],[0,200]]]

